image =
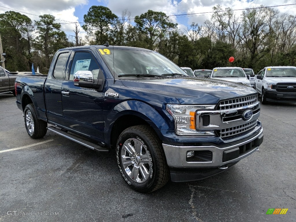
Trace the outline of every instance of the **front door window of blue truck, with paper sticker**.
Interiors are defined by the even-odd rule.
[[[80,70],[89,70],[93,73],[94,79],[99,76],[99,65],[96,63],[94,57],[89,52],[76,52],[73,58],[69,80],[73,80],[73,74]]]

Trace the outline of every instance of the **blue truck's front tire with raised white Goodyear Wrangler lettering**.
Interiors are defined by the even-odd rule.
[[[125,146],[128,144],[128,141],[131,141],[130,144],[133,145],[135,156],[126,151]],[[141,147],[140,153],[136,152],[136,147],[139,147],[139,145]],[[132,150],[130,149],[130,151]],[[125,153],[125,155],[122,155],[123,153]],[[138,155],[136,155],[136,153],[138,153]],[[151,193],[163,187],[170,178],[169,168],[161,141],[150,126],[138,125],[125,129],[120,134],[117,141],[116,157],[119,171],[124,180],[132,189],[138,192]],[[131,165],[126,165],[126,167],[123,166],[122,159],[124,159],[124,157],[126,158],[126,163],[130,161]],[[138,157],[142,157],[143,159]],[[149,162],[151,164],[150,166]],[[142,165],[146,170],[149,168],[148,176],[146,174],[147,179],[143,176],[145,172],[143,173],[144,170]],[[136,170],[136,167],[138,167],[138,171],[135,172],[138,173],[135,174],[133,173],[133,170]],[[128,169],[130,169],[130,171]],[[129,176],[128,173],[131,175]],[[136,178],[131,177],[133,175],[136,175]],[[137,182],[135,180],[139,181]]]

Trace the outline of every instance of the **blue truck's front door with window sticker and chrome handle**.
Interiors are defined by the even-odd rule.
[[[69,78],[62,84],[62,106],[65,126],[88,137],[103,141],[103,91],[74,86],[73,74],[89,70],[94,79],[105,78],[99,62],[91,51],[74,50]],[[69,64],[70,65],[70,64]]]

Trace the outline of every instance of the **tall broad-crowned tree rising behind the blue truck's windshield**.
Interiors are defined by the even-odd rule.
[[[171,22],[164,12],[148,10],[144,14],[135,17],[136,28],[147,40],[148,49],[154,50],[155,42],[163,37],[168,30],[177,28],[178,24]]]

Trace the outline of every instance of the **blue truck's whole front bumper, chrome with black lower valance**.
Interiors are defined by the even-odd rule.
[[[263,142],[262,127],[255,136],[240,141],[226,147],[163,144],[172,181],[203,179],[226,170],[258,149]],[[195,151],[194,158],[186,158],[188,151]]]

